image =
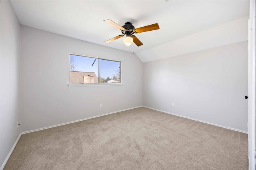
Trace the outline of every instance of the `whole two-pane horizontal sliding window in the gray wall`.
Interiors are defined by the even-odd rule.
[[[69,84],[120,83],[120,61],[69,56]]]

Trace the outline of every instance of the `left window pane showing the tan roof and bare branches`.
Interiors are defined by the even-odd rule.
[[[98,83],[98,59],[70,55],[70,84]]]

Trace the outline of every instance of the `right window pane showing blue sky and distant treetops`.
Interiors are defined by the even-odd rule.
[[[100,83],[120,83],[120,62],[100,59]]]

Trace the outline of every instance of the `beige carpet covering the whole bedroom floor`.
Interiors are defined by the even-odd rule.
[[[247,134],[144,107],[21,136],[4,170],[246,170]]]

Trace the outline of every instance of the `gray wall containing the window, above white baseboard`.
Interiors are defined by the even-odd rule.
[[[22,132],[142,106],[136,55],[22,25]],[[121,61],[122,86],[68,87],[69,53]],[[103,107],[100,108],[100,104]]]

